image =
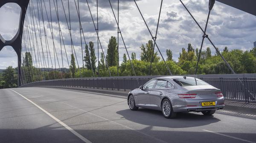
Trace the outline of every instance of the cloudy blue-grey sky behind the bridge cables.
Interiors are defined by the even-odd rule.
[[[36,58],[38,59],[37,51],[39,50],[42,53],[42,47],[44,50],[44,56],[47,60],[46,50],[50,50],[53,67],[54,64],[54,48],[51,36],[51,30],[47,20],[47,14],[50,19],[50,11],[52,12],[52,28],[53,28],[53,39],[56,47],[56,53],[61,64],[61,46],[60,46],[60,37],[59,37],[59,28],[58,20],[55,12],[54,3],[51,0],[51,8],[49,8],[49,1],[45,0],[46,9],[44,8],[44,3],[42,3],[42,11],[44,16],[44,25],[42,22],[40,8],[37,7],[37,0],[31,0],[34,4],[34,10],[36,17],[30,16],[30,11],[28,8],[27,18],[25,22],[26,32],[23,35],[27,37],[30,33],[31,46],[29,44],[29,39],[23,40],[23,47],[31,48],[32,53],[34,54],[34,47]],[[63,34],[64,43],[62,45],[62,54],[64,60],[64,67],[68,67],[67,58],[65,55],[64,46],[67,50],[68,59],[70,61],[71,54],[71,40],[70,33],[68,31],[67,22],[64,14],[64,9],[61,5],[61,0],[58,1],[58,12],[59,20],[61,25],[61,31]],[[65,12],[67,14],[67,20],[69,21],[68,16],[68,6],[67,0],[63,0]],[[77,0],[76,0],[77,2]],[[92,11],[93,19],[96,21],[96,0],[88,0],[90,9]],[[117,16],[117,0],[111,0],[115,14]],[[137,53],[137,59],[140,58],[140,45],[145,44],[151,36],[139,14],[139,11],[133,0],[119,0],[120,9],[119,9],[119,27],[122,31],[122,35],[125,41],[125,45],[128,48],[129,54],[131,52]],[[145,20],[148,23],[148,26],[153,34],[156,31],[157,18],[160,9],[160,0],[137,0],[137,4],[145,17]],[[183,0],[183,3],[189,8],[191,13],[195,16],[195,19],[198,20],[199,24],[204,28],[207,13],[208,13],[208,1],[207,0]],[[56,1],[55,1],[56,4]],[[77,3],[76,3],[77,4]],[[30,9],[32,3],[30,2]],[[85,41],[94,42],[94,48],[96,48],[97,56],[97,37],[96,32],[93,26],[93,22],[90,17],[90,13],[87,7],[85,0],[79,0],[80,6],[80,15],[82,28],[84,30]],[[33,21],[38,22],[38,8],[40,14],[40,27],[42,33],[42,45],[39,39],[39,31],[35,25],[35,30],[33,27]],[[47,13],[46,13],[47,11]],[[33,9],[32,11],[33,12]],[[17,32],[18,20],[19,20],[20,8],[16,4],[9,3],[0,8],[0,34],[6,40],[12,39],[12,37]],[[30,21],[31,19],[32,21]],[[80,43],[80,28],[79,28],[79,19],[76,11],[76,5],[73,0],[70,0],[70,21],[72,29],[72,39],[76,51],[76,56],[78,59],[79,66],[82,65],[82,56],[81,56],[81,43]],[[47,37],[44,36],[44,27],[46,29]],[[27,32],[29,30],[29,32]],[[209,25],[207,27],[207,34],[209,35],[212,42],[220,49],[223,50],[225,46],[231,49],[241,49],[241,50],[250,50],[253,47],[253,42],[256,41],[256,17],[247,14],[243,11],[240,11],[236,8],[226,6],[222,3],[216,2],[213,7],[211,16],[209,18]],[[36,33],[36,35],[35,35]],[[166,58],[166,49],[171,49],[173,52],[174,59],[177,61],[179,52],[181,48],[187,48],[187,44],[191,43],[194,48],[200,48],[202,40],[202,32],[189,16],[185,8],[181,5],[179,0],[163,0],[162,13],[160,16],[160,25],[157,35],[157,45],[159,46],[163,56]],[[37,38],[35,38],[37,36]],[[99,0],[99,38],[102,43],[102,48],[106,54],[108,41],[111,36],[117,36],[117,25],[113,17],[113,13],[110,8],[108,0]],[[32,39],[34,39],[34,47],[32,44]],[[48,41],[48,44],[46,40]],[[38,46],[36,45],[38,42]],[[119,41],[119,57],[122,61],[122,55],[126,53],[125,47],[121,41]],[[49,48],[48,46],[49,45]],[[84,50],[84,40],[82,41],[83,50]],[[215,53],[214,48],[210,45],[209,41],[204,42],[203,49],[210,47],[212,49],[212,54]],[[100,48],[100,47],[99,47]],[[23,48],[25,49],[25,48]],[[49,51],[48,51],[49,52]],[[100,49],[101,52],[101,49]],[[41,61],[43,62],[43,55],[41,54]],[[49,56],[49,55],[48,55]],[[33,55],[35,59],[35,55]],[[35,61],[35,60],[34,60]],[[47,61],[46,61],[47,62]],[[58,68],[56,57],[56,67]],[[41,62],[35,63],[39,66]],[[48,64],[48,63],[47,63]],[[0,51],[0,69],[5,69],[9,65],[14,67],[17,66],[17,56],[12,50],[12,47],[5,47]],[[52,67],[49,56],[49,65]],[[46,67],[46,66],[45,66]]]

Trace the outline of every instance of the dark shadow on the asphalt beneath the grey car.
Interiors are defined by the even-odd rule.
[[[131,111],[130,109],[125,109],[116,112],[122,115],[126,120],[140,123],[148,126],[162,126],[169,128],[187,128],[194,126],[204,126],[210,123],[216,123],[219,120],[215,118],[214,115],[205,116],[195,113],[178,113],[176,118],[167,119],[164,118],[161,111],[143,109],[140,108],[137,111]]]

